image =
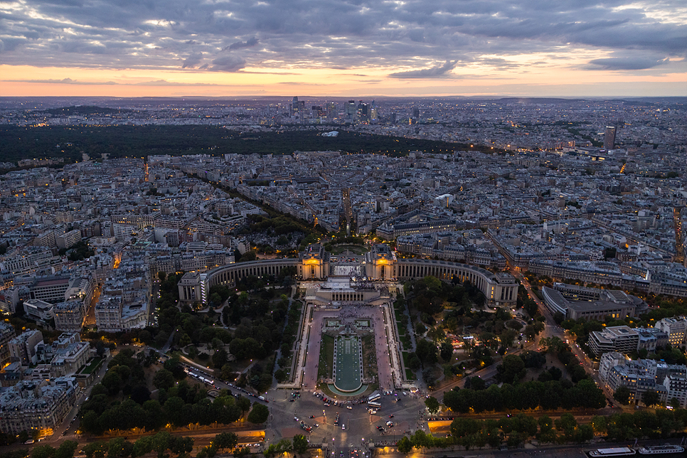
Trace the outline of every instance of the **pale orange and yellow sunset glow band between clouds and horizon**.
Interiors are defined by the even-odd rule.
[[[654,88],[656,95],[684,92],[684,73],[622,75],[611,70],[578,70],[573,66],[588,58],[590,55],[580,56],[577,62],[568,61],[565,65],[529,66],[532,57],[527,60],[526,56],[514,56],[511,62],[519,65],[514,70],[472,65],[454,69],[447,78],[434,79],[389,76],[407,68],[245,68],[228,73],[174,68],[107,70],[0,65],[0,96],[573,96],[623,95],[629,93],[627,87]],[[464,73],[469,75],[463,77]]]

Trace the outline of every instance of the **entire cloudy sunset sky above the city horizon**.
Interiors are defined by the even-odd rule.
[[[686,57],[685,0],[0,0],[0,96],[684,96]]]

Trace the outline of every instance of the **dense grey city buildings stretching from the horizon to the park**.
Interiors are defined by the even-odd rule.
[[[181,301],[199,304],[213,284],[287,266],[302,279],[326,277],[329,255],[320,248],[294,257],[304,234],[242,230],[250,215],[266,215],[262,206],[331,232],[394,243],[395,250],[376,245],[368,253],[378,255],[366,260],[373,279],[458,276],[478,284],[491,307],[515,304],[508,267],[554,279],[543,299],[565,319],[639,316],[648,306],[632,292],[687,297],[687,164],[677,154],[685,151],[687,131],[683,112],[670,102],[294,97],[181,108],[131,102],[119,106],[128,110],[92,116],[48,115],[31,106],[4,107],[0,124],[211,124],[241,132],[316,129],[329,137],[349,130],[507,152],[20,161],[33,168],[0,176],[0,309],[63,334],[48,345],[40,331],[16,335],[0,324],[3,431],[50,428],[66,415],[88,382],[83,369],[102,357],[80,341],[82,329],[156,324],[151,292],[158,272],[186,272]],[[72,260],[70,252],[83,245],[92,255]],[[256,245],[272,246],[277,258],[234,262]],[[685,366],[627,355],[685,346],[686,330],[687,319],[674,317],[648,329],[593,332],[602,380],[631,388],[633,399],[656,390],[685,407]]]

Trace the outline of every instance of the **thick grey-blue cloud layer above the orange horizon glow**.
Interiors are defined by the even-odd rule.
[[[584,69],[684,71],[680,18],[683,0],[3,0],[0,63],[455,78],[461,63],[508,71],[509,55],[583,49],[612,55]]]

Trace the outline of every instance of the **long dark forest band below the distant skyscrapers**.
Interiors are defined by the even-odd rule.
[[[404,137],[339,132],[322,137],[316,130],[241,134],[214,126],[69,126],[0,127],[4,161],[81,154],[94,158],[147,156],[149,154],[293,154],[294,151],[341,150],[349,153],[384,153],[405,156],[410,151],[450,154],[455,149],[494,152],[490,147]],[[59,145],[59,147],[57,147]]]

